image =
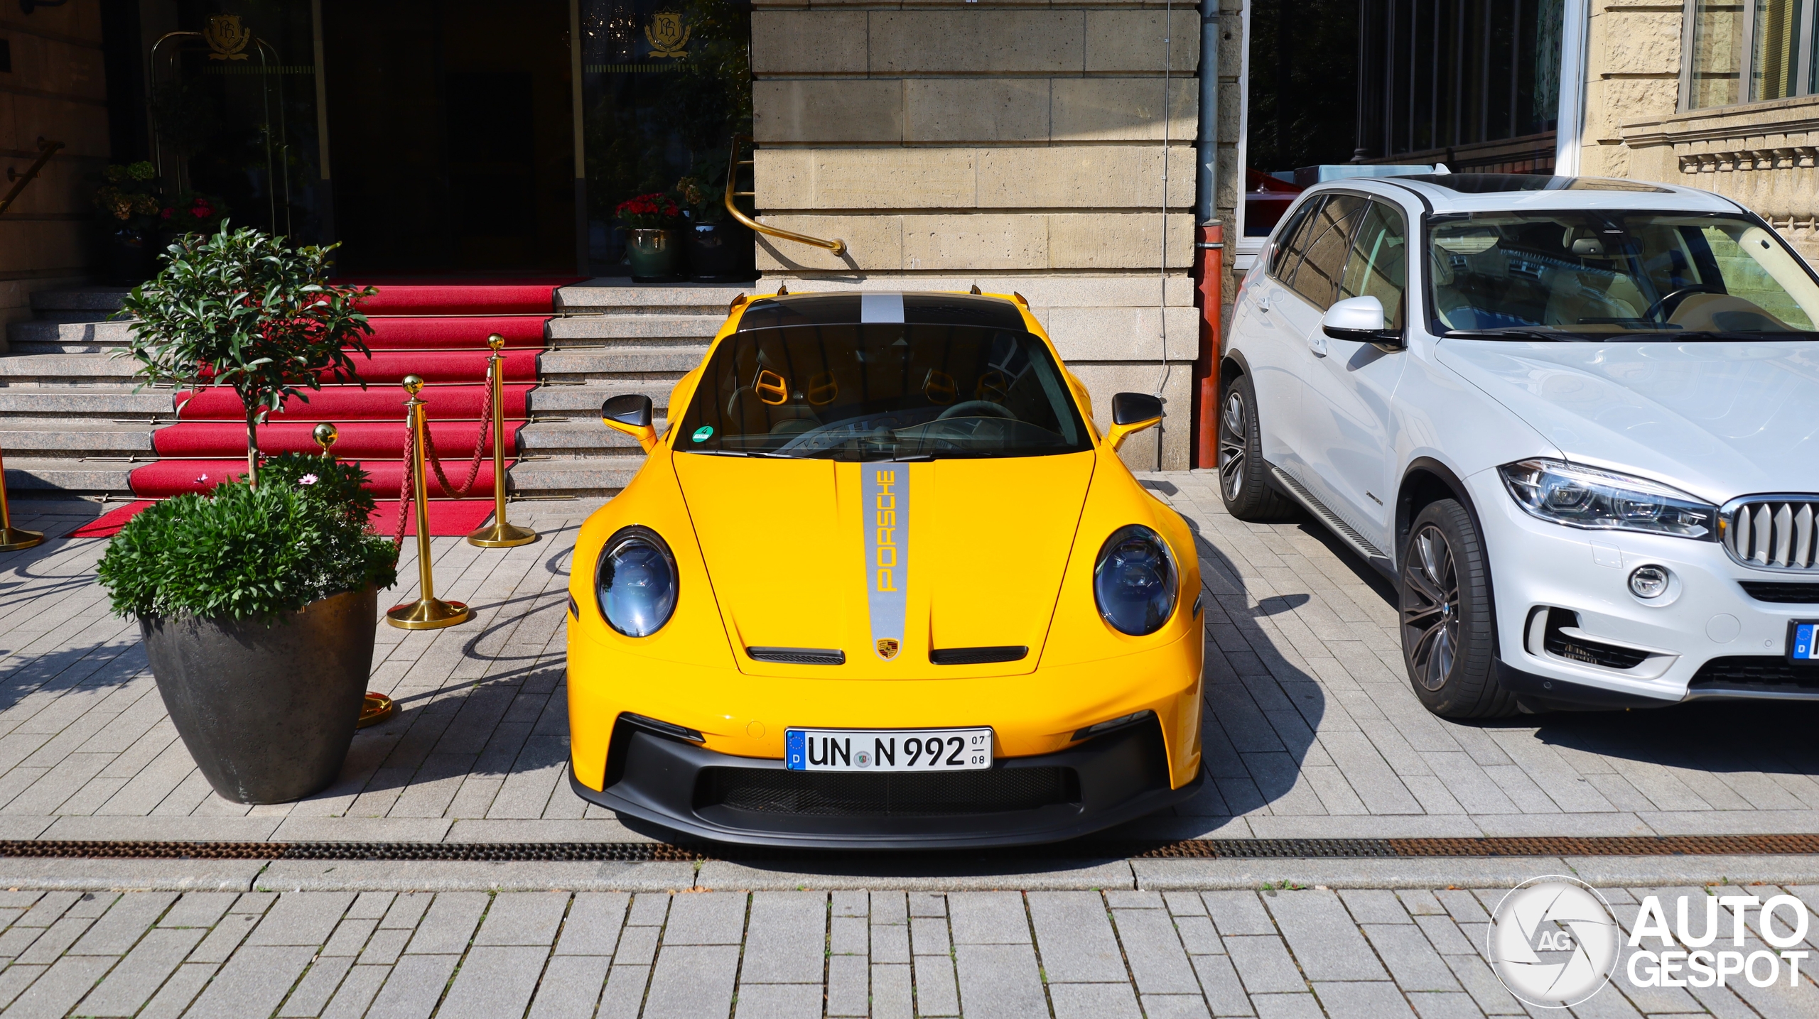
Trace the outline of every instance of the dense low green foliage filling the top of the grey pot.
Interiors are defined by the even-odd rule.
[[[256,489],[227,481],[129,519],[96,569],[113,610],[273,619],[333,594],[397,583],[391,541],[373,534],[349,501],[313,492],[302,474],[276,483],[293,467],[278,460],[286,467]]]

